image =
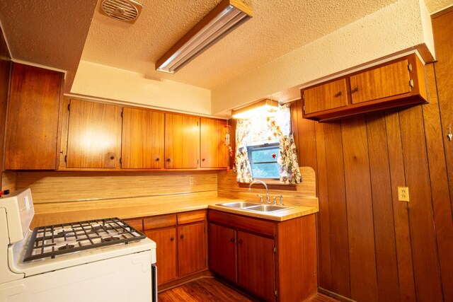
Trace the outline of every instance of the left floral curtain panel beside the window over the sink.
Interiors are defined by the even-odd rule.
[[[250,120],[238,120],[236,124],[236,180],[251,182],[252,173],[247,154],[247,137],[251,129]]]

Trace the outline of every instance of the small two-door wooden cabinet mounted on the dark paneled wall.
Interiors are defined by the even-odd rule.
[[[301,94],[302,116],[320,122],[428,100],[425,67],[416,54],[304,88]]]

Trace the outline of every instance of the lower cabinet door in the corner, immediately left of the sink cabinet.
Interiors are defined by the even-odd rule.
[[[206,267],[205,222],[178,226],[178,276]]]

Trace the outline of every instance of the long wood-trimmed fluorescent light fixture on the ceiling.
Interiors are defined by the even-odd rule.
[[[157,60],[156,70],[174,74],[252,16],[240,0],[223,0]]]

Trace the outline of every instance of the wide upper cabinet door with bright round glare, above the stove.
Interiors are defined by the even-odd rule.
[[[118,106],[71,100],[67,168],[117,168],[120,141]]]

